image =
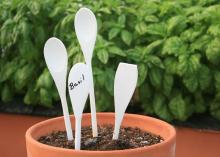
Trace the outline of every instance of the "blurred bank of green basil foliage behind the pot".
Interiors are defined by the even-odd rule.
[[[52,108],[59,100],[45,66],[52,36],[67,47],[69,68],[84,61],[74,32],[76,11],[96,15],[93,55],[98,111],[113,111],[119,62],[138,65],[132,105],[167,121],[209,113],[220,120],[219,0],[1,0],[0,97]]]

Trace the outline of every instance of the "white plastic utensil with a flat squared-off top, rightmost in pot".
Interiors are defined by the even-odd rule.
[[[118,139],[121,122],[134,93],[138,78],[137,66],[134,64],[120,63],[115,75],[114,100],[115,100],[115,128],[113,139]]]

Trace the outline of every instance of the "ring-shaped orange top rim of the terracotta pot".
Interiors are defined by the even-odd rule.
[[[99,112],[97,113],[97,116],[114,116],[115,113],[113,112]],[[73,117],[74,115],[71,115],[70,117]],[[84,113],[83,117],[87,117],[87,116],[91,116],[90,113]],[[165,139],[163,142],[161,143],[157,143],[151,146],[147,146],[147,147],[139,147],[139,148],[134,148],[134,149],[124,149],[124,150],[107,150],[107,151],[91,151],[91,150],[74,150],[74,149],[67,149],[67,148],[60,148],[60,147],[54,147],[54,146],[50,146],[50,145],[46,145],[43,143],[38,142],[37,140],[35,140],[32,137],[32,132],[37,129],[38,127],[40,127],[42,124],[44,123],[51,123],[53,121],[57,121],[58,119],[63,118],[63,116],[60,117],[56,117],[56,118],[51,118],[39,123],[34,124],[33,126],[31,126],[25,134],[26,140],[28,139],[28,141],[35,145],[36,147],[39,148],[44,148],[44,149],[48,149],[48,150],[52,150],[52,151],[65,151],[65,152],[69,152],[69,153],[76,153],[76,154],[118,154],[118,153],[135,153],[135,152],[141,152],[141,151],[149,151],[152,149],[157,149],[159,147],[163,147],[169,143],[172,143],[172,141],[175,140],[176,138],[176,130],[175,128],[170,125],[167,122],[164,122],[162,120],[153,118],[153,117],[149,117],[149,116],[144,116],[144,115],[139,115],[139,114],[130,114],[130,113],[125,113],[124,117],[127,118],[138,118],[138,119],[150,119],[151,121],[157,122],[157,123],[161,123],[161,125],[165,125],[169,131],[170,131],[170,136]]]

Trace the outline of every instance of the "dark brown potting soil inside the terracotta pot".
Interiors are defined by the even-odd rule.
[[[93,138],[91,127],[82,128],[82,150],[106,151],[134,149],[164,141],[161,136],[142,131],[139,128],[121,127],[118,140],[112,140],[113,126],[98,126],[98,130],[99,136]],[[55,147],[74,149],[74,140],[67,141],[65,131],[54,131],[49,135],[40,137],[38,141]]]

